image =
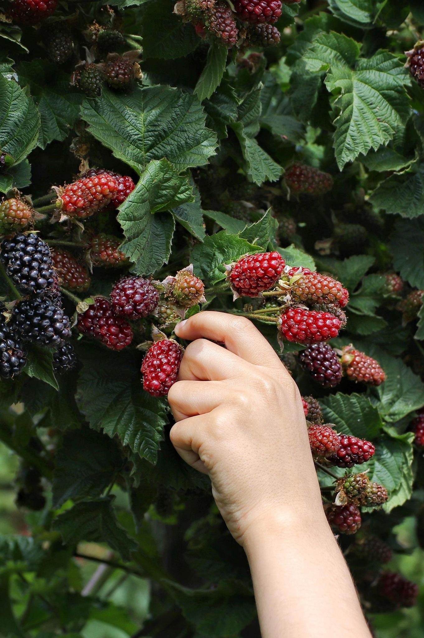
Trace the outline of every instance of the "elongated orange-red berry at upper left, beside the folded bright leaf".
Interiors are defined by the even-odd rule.
[[[102,173],[78,179],[65,186],[57,201],[61,210],[69,217],[85,219],[110,204],[117,192],[115,177]]]

